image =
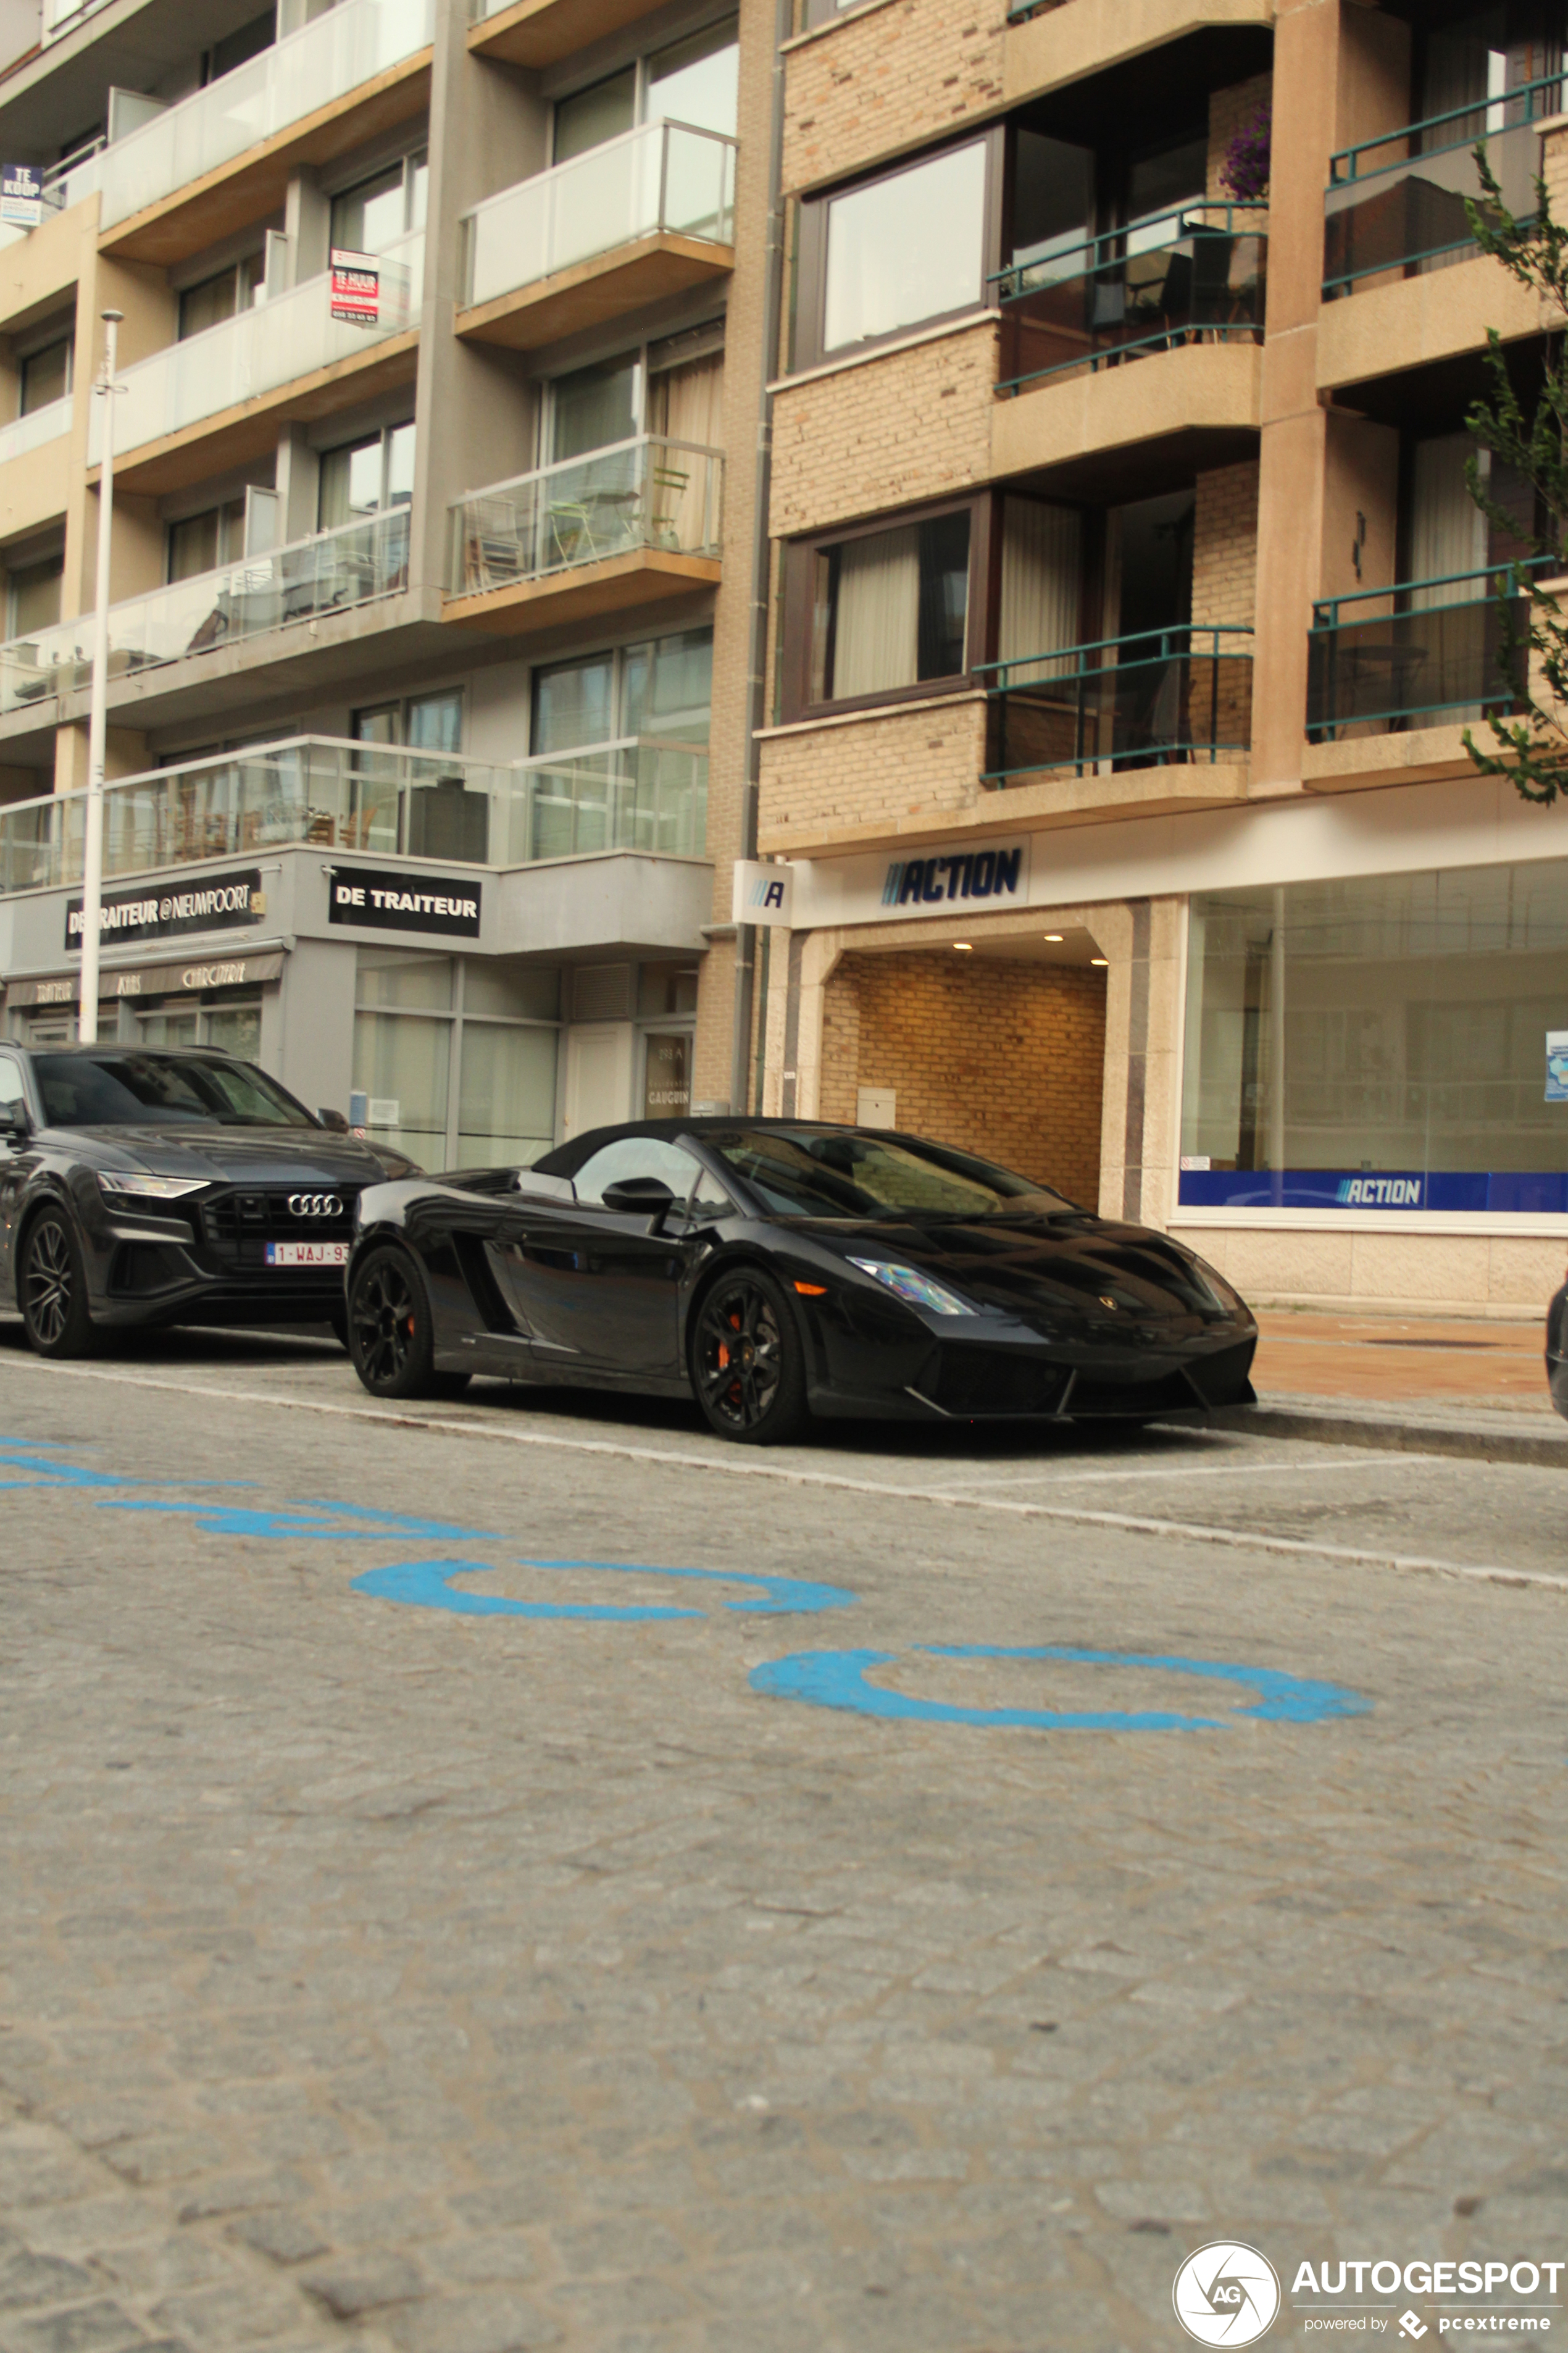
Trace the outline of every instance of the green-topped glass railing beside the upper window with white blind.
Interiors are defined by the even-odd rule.
[[[1180,344],[1262,344],[1260,205],[1184,205],[1001,271],[1001,393]]]

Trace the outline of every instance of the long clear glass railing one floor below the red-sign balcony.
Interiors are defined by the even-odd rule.
[[[315,532],[108,607],[108,675],[242,645],[407,588],[407,508]],[[92,614],[0,645],[0,713],[92,682]]]

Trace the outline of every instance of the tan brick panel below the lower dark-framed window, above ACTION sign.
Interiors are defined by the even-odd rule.
[[[786,852],[833,833],[897,833],[979,800],[986,706],[909,704],[789,729],[763,744],[760,849]]]

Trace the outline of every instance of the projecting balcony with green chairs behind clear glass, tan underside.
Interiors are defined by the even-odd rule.
[[[720,581],[723,456],[631,440],[452,506],[445,621],[516,635]]]

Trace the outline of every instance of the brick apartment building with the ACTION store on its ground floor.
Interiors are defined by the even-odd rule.
[[[1055,1176],[1255,1297],[1561,1280],[1568,835],[1462,734],[1523,544],[1464,416],[1488,327],[1530,398],[1556,325],[1474,249],[1471,148],[1521,216],[1568,184],[1566,31],[803,0],[768,1108]]]

